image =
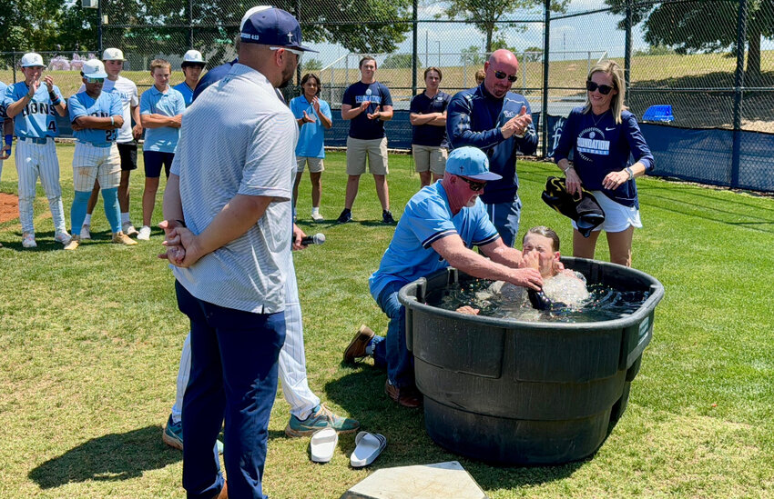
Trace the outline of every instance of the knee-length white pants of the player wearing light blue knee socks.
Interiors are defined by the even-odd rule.
[[[73,153],[73,187],[86,192],[99,180],[100,189],[112,189],[121,182],[121,156],[114,143],[110,147],[97,147],[76,142]]]

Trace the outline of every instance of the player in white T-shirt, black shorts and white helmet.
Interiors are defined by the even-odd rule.
[[[121,98],[124,110],[124,125],[118,130],[118,155],[121,156],[121,183],[118,185],[118,205],[121,208],[121,229],[126,235],[137,235],[137,229],[129,218],[129,175],[132,170],[137,170],[137,140],[142,137],[142,124],[139,121],[139,96],[137,85],[124,76],[124,53],[118,48],[106,48],[102,53],[102,62],[105,63],[107,79],[102,85],[103,92],[117,94]],[[85,86],[81,85],[78,92],[83,92]],[[132,119],[135,125],[132,126]],[[88,198],[88,207],[84,225],[81,227],[81,240],[91,238],[91,214],[97,205],[99,185],[94,185],[91,197]],[[73,232],[75,232],[75,228]]]

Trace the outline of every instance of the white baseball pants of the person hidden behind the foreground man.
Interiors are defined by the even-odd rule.
[[[172,423],[178,423],[183,410],[183,395],[188,386],[191,372],[191,334],[188,332],[183,342],[178,369],[178,393],[172,406]],[[287,278],[285,280],[285,344],[280,350],[280,382],[285,400],[290,404],[290,414],[304,420],[311,410],[320,404],[320,397],[313,394],[306,375],[306,354],[304,352],[303,322],[299,287],[296,282],[296,269],[292,255],[289,258]]]

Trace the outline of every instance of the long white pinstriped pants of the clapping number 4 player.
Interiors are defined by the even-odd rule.
[[[48,198],[54,228],[56,232],[66,232],[62,187],[59,185],[59,160],[56,158],[54,139],[49,137],[46,144],[19,139],[16,142],[15,164],[19,175],[19,218],[22,232],[35,234],[33,203],[38,176]]]

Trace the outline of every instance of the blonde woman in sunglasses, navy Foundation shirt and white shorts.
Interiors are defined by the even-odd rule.
[[[610,261],[631,266],[632,235],[635,227],[642,227],[634,179],[652,170],[654,160],[637,118],[624,105],[625,94],[624,72],[615,61],[592,67],[586,78],[586,105],[573,109],[567,118],[555,161],[565,173],[570,194],[581,195],[583,185],[605,210],[605,222],[587,238],[573,223],[573,256],[594,258],[596,239],[605,230]]]

